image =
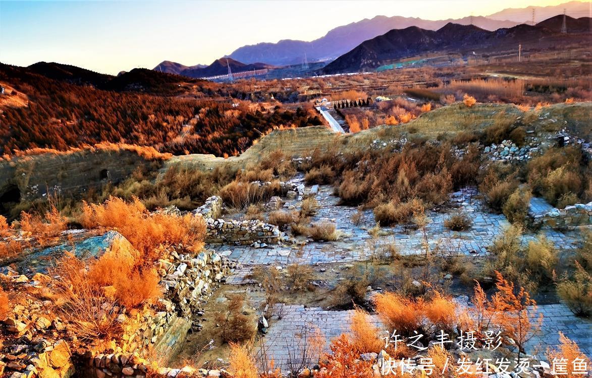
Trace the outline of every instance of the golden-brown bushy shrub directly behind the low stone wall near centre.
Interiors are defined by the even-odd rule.
[[[279,194],[281,194],[281,188],[277,181],[272,182],[271,185],[233,181],[223,186],[218,192],[225,203],[238,209],[244,209],[252,203],[267,201]]]

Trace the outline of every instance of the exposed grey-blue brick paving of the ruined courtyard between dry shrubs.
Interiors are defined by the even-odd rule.
[[[300,183],[302,175],[295,177],[294,182]],[[316,189],[316,188],[315,188]],[[310,186],[307,190],[311,190]],[[359,225],[353,224],[351,218],[358,209],[352,206],[337,206],[339,198],[332,194],[333,188],[321,185],[316,194],[320,205],[318,213],[312,221],[329,221],[336,224],[337,230],[343,233],[343,238],[336,242],[314,242],[310,241],[303,247],[298,245],[269,245],[265,248],[253,248],[248,245],[208,245],[224,256],[242,263],[233,276],[227,279],[227,283],[247,282],[245,277],[252,272],[252,267],[258,264],[274,264],[284,266],[294,261],[295,254],[302,248],[303,256],[299,263],[323,264],[323,263],[349,263],[352,261],[363,261],[371,257],[375,245],[394,243],[400,253],[414,254],[421,253],[423,234],[421,231],[409,230],[403,226],[381,227],[379,236],[373,238],[369,230],[374,227],[374,215],[371,210],[363,213],[362,222]],[[300,201],[288,201],[287,205],[300,207]],[[546,211],[549,207],[545,201],[533,199],[533,211]],[[466,188],[453,193],[451,199],[446,203],[444,211],[429,211],[427,218],[429,224],[426,227],[430,246],[435,248],[448,248],[458,253],[484,256],[487,247],[497,237],[507,222],[504,215],[493,214],[488,211],[485,204],[477,198],[475,188]],[[464,232],[452,232],[444,226],[444,221],[455,211],[455,208],[462,209],[472,219],[472,227]],[[236,215],[240,218],[240,215]],[[551,240],[560,250],[570,250],[576,247],[581,240],[577,231],[559,232],[551,229],[540,231]],[[535,238],[536,235],[527,234],[523,243]],[[324,311],[321,308],[304,308],[304,306],[285,306],[285,316],[282,319],[272,319],[269,333],[264,338],[269,357],[274,358],[275,363],[282,366],[288,358],[287,343],[295,343],[303,327],[314,324],[327,337],[327,340],[347,332],[350,325],[351,311]],[[558,345],[558,331],[570,339],[577,341],[581,349],[592,355],[592,322],[576,318],[570,311],[561,304],[542,305],[539,313],[543,314],[542,329],[529,343],[530,353],[545,351],[548,346]],[[374,321],[378,321],[374,316]],[[295,341],[296,340],[296,341]]]

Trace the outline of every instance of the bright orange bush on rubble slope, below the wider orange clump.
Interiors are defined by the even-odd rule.
[[[136,251],[130,251],[128,245],[115,240],[111,249],[89,267],[89,285],[97,289],[114,287],[114,298],[126,308],[136,308],[141,303],[157,299],[161,290],[156,270],[150,267],[141,270],[134,268],[134,254],[137,254]]]

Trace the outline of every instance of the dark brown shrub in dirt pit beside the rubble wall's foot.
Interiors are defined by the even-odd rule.
[[[243,314],[244,298],[235,294],[230,297],[226,311],[216,315],[216,321],[220,324],[221,337],[225,343],[244,343],[255,337],[255,325],[253,319]]]

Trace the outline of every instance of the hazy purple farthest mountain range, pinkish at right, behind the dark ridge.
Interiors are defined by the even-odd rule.
[[[415,17],[376,16],[372,19],[365,18],[358,22],[336,27],[324,37],[314,41],[281,40],[277,43],[262,42],[239,47],[226,57],[231,59],[230,69],[233,72],[236,70],[238,70],[236,72],[240,72],[240,70],[257,69],[256,67],[262,67],[264,64],[273,66],[300,64],[303,63],[305,56],[308,62],[330,61],[348,53],[363,41],[394,29],[401,30],[415,26],[423,30],[436,31],[446,24],[453,23],[459,25],[472,24],[475,27],[493,31],[500,28],[511,28],[522,23],[530,24],[532,22],[532,9],[535,9],[536,20],[545,20],[563,14],[564,9],[571,17],[585,17],[589,13],[589,7],[589,2],[570,1],[549,7],[508,8],[486,17],[464,17],[455,20],[437,21],[422,20]],[[210,66],[202,64],[185,66],[181,63],[165,60],[158,64],[155,70],[191,77],[224,75],[227,68],[224,67],[223,69],[217,62],[218,60],[210,64]],[[253,64],[253,67],[245,67],[249,64]],[[223,65],[226,66],[226,62]]]

